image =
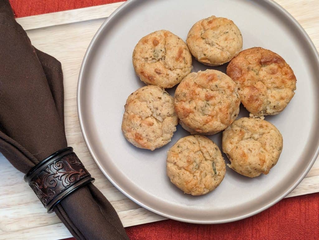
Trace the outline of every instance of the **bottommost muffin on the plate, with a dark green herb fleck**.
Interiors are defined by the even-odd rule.
[[[218,187],[225,173],[219,148],[205,136],[183,137],[167,153],[167,176],[184,193],[206,194]]]

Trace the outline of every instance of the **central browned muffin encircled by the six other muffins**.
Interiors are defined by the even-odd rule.
[[[226,74],[208,69],[187,75],[175,91],[175,112],[200,134],[224,130],[239,113],[237,85]]]

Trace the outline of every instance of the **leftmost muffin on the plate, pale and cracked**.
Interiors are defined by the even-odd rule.
[[[171,141],[177,123],[173,97],[158,86],[139,88],[126,100],[122,132],[138,148],[164,146]]]

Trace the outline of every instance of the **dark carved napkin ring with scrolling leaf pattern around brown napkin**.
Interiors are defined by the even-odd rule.
[[[38,196],[48,213],[73,191],[94,181],[80,159],[67,147],[35,165],[24,180]]]

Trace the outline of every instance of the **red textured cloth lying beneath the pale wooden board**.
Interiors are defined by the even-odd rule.
[[[119,0],[10,0],[16,17],[70,10]],[[319,184],[319,183],[318,183]],[[132,240],[319,239],[319,193],[288,198],[250,218],[218,225],[173,220],[126,228]]]

